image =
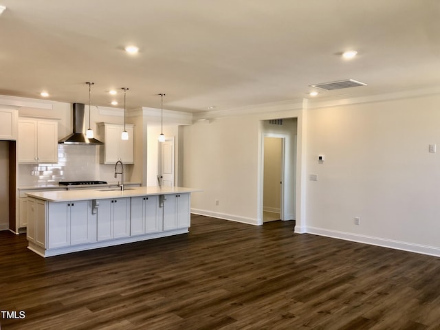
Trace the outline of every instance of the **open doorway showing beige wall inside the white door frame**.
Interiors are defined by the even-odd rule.
[[[283,137],[264,137],[263,223],[283,219]]]

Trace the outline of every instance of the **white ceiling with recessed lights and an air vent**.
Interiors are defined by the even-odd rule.
[[[199,112],[440,85],[439,0],[0,0],[0,94]],[[124,47],[135,44],[131,56]],[[344,61],[340,54],[357,50]],[[115,97],[121,107],[123,96]],[[123,106],[122,106],[123,107]]]

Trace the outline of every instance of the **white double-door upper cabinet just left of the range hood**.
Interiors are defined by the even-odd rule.
[[[58,122],[20,118],[18,149],[19,163],[57,163]]]

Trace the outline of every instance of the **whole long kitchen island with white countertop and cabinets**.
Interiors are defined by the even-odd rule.
[[[190,195],[184,187],[91,188],[28,192],[28,248],[41,256],[184,234]]]

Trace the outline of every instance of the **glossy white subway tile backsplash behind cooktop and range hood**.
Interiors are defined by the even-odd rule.
[[[126,179],[129,179],[129,168]],[[59,181],[118,181],[114,166],[99,163],[99,147],[58,144],[57,164],[19,164],[19,186],[58,184]]]

